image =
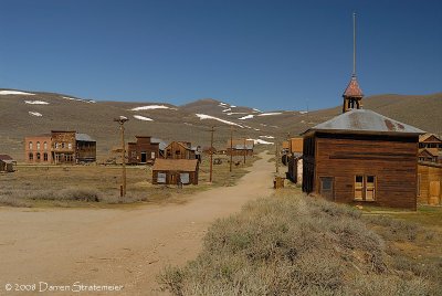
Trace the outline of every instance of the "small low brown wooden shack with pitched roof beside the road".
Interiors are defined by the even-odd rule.
[[[160,159],[152,167],[152,184],[198,184],[198,159]]]

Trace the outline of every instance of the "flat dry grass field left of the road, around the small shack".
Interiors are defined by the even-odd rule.
[[[118,166],[20,166],[13,173],[0,175],[0,204],[8,207],[105,207],[119,203],[185,202],[191,194],[213,187],[233,186],[257,157],[233,166],[228,158],[213,166],[209,182],[209,159],[200,166],[198,186],[152,186],[151,167],[127,167],[127,195],[119,198],[122,168]],[[234,159],[235,160],[235,159]],[[238,159],[239,160],[239,159]]]

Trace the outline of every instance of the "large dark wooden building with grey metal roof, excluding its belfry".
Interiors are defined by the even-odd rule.
[[[351,109],[304,133],[303,191],[338,202],[415,209],[424,131]]]

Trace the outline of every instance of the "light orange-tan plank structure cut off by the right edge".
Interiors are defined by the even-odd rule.
[[[431,205],[442,204],[442,165],[419,161],[418,202]]]

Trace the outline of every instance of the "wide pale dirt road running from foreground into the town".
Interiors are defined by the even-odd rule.
[[[261,157],[235,187],[198,193],[186,204],[133,210],[0,208],[0,295],[19,294],[7,294],[7,283],[39,282],[123,285],[123,293],[116,294],[158,294],[157,274],[168,264],[196,257],[210,223],[272,192],[273,165],[270,156]]]

